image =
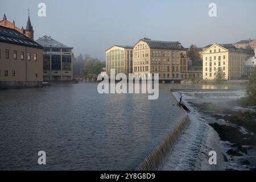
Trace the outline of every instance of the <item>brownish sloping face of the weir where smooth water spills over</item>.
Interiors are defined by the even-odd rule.
[[[189,117],[186,113],[177,123],[177,126],[170,131],[167,137],[158,144],[151,152],[142,160],[141,163],[134,169],[135,171],[155,171],[163,166],[175,142],[179,138],[180,134],[189,125]]]

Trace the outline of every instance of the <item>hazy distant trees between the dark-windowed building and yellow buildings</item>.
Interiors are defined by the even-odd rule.
[[[80,54],[73,58],[73,75],[90,75],[100,74],[101,68],[104,68],[105,62],[85,55],[84,57]]]

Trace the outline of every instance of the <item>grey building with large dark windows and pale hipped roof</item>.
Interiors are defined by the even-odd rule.
[[[44,47],[44,81],[69,81],[73,79],[73,48],[43,36],[36,40]]]

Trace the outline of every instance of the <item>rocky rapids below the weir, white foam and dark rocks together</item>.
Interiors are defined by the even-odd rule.
[[[183,102],[191,110],[191,125],[177,142],[163,170],[255,169],[256,139],[254,124],[251,124],[255,114],[248,113],[251,108],[237,106],[238,111],[227,107],[234,106],[234,102],[244,96],[243,91],[195,90],[173,94],[176,98],[183,96]],[[208,163],[210,150],[217,152],[217,165]]]

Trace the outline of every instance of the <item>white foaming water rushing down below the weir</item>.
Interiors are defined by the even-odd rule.
[[[217,132],[205,121],[207,118],[201,117],[197,109],[188,104],[189,98],[195,98],[195,96],[193,97],[193,94],[184,92],[174,92],[173,94],[176,100],[182,94],[183,102],[191,110],[191,113],[188,114],[191,123],[177,141],[162,170],[245,170],[246,167],[239,165],[236,157],[230,159],[225,154],[230,148],[230,143],[222,142]],[[209,93],[203,93],[205,97],[207,97],[207,94]],[[217,98],[224,97],[221,96],[221,93],[217,94],[219,94],[219,96],[216,96]],[[230,95],[233,98],[241,98],[243,93],[225,93],[226,95]],[[210,165],[208,162],[208,154],[212,150],[217,152],[217,165]],[[229,162],[224,162],[224,155]]]

